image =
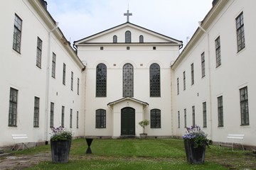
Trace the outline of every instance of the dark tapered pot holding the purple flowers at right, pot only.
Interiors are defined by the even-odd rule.
[[[191,164],[203,164],[205,160],[206,144],[195,148],[193,140],[184,140],[186,159]]]

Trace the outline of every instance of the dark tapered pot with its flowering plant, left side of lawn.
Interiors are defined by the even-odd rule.
[[[52,128],[50,149],[53,163],[67,163],[73,134],[62,127]]]

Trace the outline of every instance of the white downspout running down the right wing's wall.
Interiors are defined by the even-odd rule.
[[[213,140],[213,112],[212,112],[212,87],[210,76],[210,38],[209,33],[201,27],[201,21],[198,22],[199,28],[207,35],[207,56],[208,56],[208,72],[209,72],[209,104],[210,104],[210,138]]]

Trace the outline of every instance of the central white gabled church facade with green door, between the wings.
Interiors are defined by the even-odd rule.
[[[181,44],[129,22],[75,42],[86,62],[85,134],[139,136],[146,119],[149,135],[170,137],[170,64]]]

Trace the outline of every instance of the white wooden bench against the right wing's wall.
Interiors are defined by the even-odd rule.
[[[228,141],[227,142],[219,142],[220,146],[228,146],[232,147],[232,150],[234,151],[234,144],[240,144],[242,146],[242,150],[245,150],[245,148],[242,145],[242,140],[244,139],[245,135],[243,134],[228,134]]]

